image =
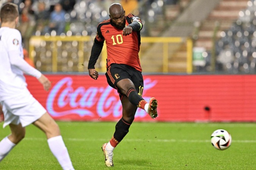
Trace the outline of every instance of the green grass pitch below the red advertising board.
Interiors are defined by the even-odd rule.
[[[57,122],[76,170],[109,169],[104,164],[103,143],[112,137],[116,122]],[[2,126],[3,123],[0,123]],[[210,143],[214,130],[232,136],[227,150]],[[256,169],[255,123],[149,123],[134,122],[114,150],[118,170],[245,170]],[[0,139],[10,133],[0,128]],[[61,170],[38,128],[29,125],[26,137],[0,162],[1,170]]]

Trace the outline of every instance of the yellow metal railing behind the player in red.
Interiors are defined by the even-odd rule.
[[[33,36],[29,43],[29,54],[30,58],[33,61],[35,60],[36,67],[41,71],[83,72],[87,70],[93,41],[94,37],[90,36]],[[157,50],[161,51],[160,53],[151,51],[156,44],[162,46],[162,49],[155,47]],[[177,47],[173,49],[173,51],[170,51],[174,44],[177,45]],[[149,54],[160,54],[160,58],[157,60],[162,60],[162,62],[160,62],[160,71],[158,72],[168,73],[170,72],[170,58],[177,53],[180,46],[185,46],[186,50],[186,71],[184,72],[190,74],[192,73],[193,48],[191,39],[184,37],[141,37],[141,50],[139,55],[140,58],[143,59],[148,57]],[[145,55],[145,57],[143,55]],[[105,72],[106,70],[106,57],[107,50],[104,45],[100,59],[96,63],[96,68],[100,72]],[[150,56],[146,58],[146,60],[150,62]],[[154,61],[152,62],[154,63]],[[155,66],[157,66],[156,63]]]

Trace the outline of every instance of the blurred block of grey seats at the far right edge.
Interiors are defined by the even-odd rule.
[[[237,19],[232,20],[231,27],[219,34],[220,38],[215,44],[218,71],[234,74],[255,73],[256,1],[250,0],[246,4],[238,12]],[[229,59],[221,60],[223,57]]]

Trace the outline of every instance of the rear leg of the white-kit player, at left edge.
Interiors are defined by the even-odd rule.
[[[11,134],[0,142],[0,161],[25,137],[25,127],[9,124]]]

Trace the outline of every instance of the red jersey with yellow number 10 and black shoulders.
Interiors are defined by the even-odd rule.
[[[126,16],[126,26],[132,23],[132,14]],[[140,51],[140,31],[123,36],[123,29],[117,29],[111,20],[104,20],[97,26],[96,40],[106,41],[107,67],[112,63],[126,64],[138,71],[141,70],[138,53]]]

